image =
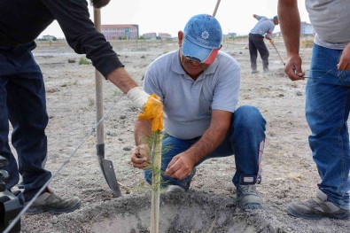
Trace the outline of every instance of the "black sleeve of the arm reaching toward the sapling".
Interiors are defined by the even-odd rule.
[[[43,0],[43,4],[58,20],[67,43],[76,53],[86,54],[105,78],[115,68],[123,66],[111,44],[89,19],[86,0]]]

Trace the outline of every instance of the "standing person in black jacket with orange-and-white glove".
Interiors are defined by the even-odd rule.
[[[97,8],[109,0],[90,0]],[[1,0],[0,1],[0,155],[9,160],[7,190],[22,183],[25,202],[30,201],[51,173],[43,168],[47,156],[45,128],[48,124],[43,74],[32,54],[35,38],[53,20],[66,35],[67,43],[79,54],[86,54],[106,80],[121,89],[133,104],[144,110],[153,128],[161,128],[162,105],[146,94],[124,69],[104,35],[89,19],[86,0]],[[13,127],[12,144],[19,166],[9,146],[9,120]],[[79,198],[60,198],[47,188],[31,213],[66,213],[81,206]]]

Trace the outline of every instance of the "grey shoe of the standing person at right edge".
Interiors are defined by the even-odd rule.
[[[287,206],[288,214],[297,218],[304,219],[350,219],[350,210],[341,209],[330,201],[327,201],[327,195],[318,190],[316,197],[305,202],[293,202]]]

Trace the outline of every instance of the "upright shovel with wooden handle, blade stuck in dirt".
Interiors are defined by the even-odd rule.
[[[94,22],[97,31],[101,32],[101,14],[100,9],[94,8]],[[102,119],[104,115],[103,107],[103,80],[104,77],[101,73],[95,69],[95,82],[96,82],[96,118],[97,118],[97,159],[98,165],[101,168],[102,174],[105,177],[105,181],[108,183],[109,188],[113,191],[115,197],[121,197],[121,190],[117,182],[117,178],[114,173],[113,163],[110,160],[105,159],[105,138],[104,138],[104,122]]]

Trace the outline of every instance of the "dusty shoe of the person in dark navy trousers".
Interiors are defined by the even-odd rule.
[[[73,212],[82,205],[80,198],[60,198],[51,190],[40,195],[32,206],[27,209],[27,214],[40,214],[49,212],[52,214],[63,214]]]

